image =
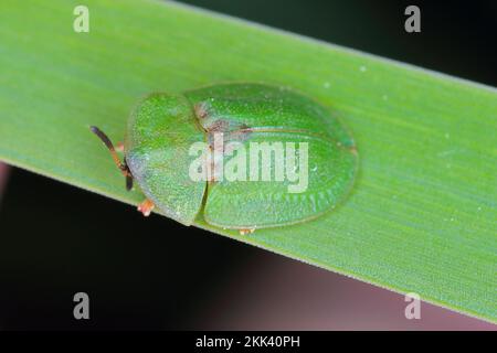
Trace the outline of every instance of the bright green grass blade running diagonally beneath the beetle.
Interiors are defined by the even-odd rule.
[[[1,160],[136,204],[89,125],[121,139],[156,90],[295,87],[352,131],[348,200],[251,236],[198,225],[497,321],[497,90],[176,3],[86,0],[76,33],[77,4],[0,2]]]

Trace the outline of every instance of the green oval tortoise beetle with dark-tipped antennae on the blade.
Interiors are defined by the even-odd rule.
[[[126,178],[127,190],[136,181],[146,195],[138,206],[144,215],[157,207],[183,225],[191,225],[201,215],[213,226],[242,234],[306,222],[336,207],[351,189],[358,165],[356,143],[331,110],[288,87],[262,83],[226,83],[183,94],[148,95],[128,119],[120,148],[123,161],[109,138],[97,127],[91,129],[109,149]],[[201,159],[212,164],[201,165],[205,170],[215,170],[235,152],[260,143],[272,148],[273,158],[266,162],[261,158],[254,165],[274,174],[277,170],[271,161],[282,162],[274,146],[307,143],[307,188],[292,193],[288,180],[221,180],[212,178],[212,170],[209,179],[192,180],[191,147],[203,142],[215,151],[216,133],[222,135],[223,146],[233,142],[237,149],[218,148],[221,159]],[[245,160],[239,157],[237,162],[243,167],[246,156]]]

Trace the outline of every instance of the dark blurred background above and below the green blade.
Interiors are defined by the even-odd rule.
[[[82,1],[84,2],[84,1]],[[495,1],[184,0],[497,86]],[[421,9],[421,33],[404,9]],[[41,202],[43,200],[43,202]],[[73,318],[87,292],[91,320]],[[495,330],[0,163],[0,329]]]

